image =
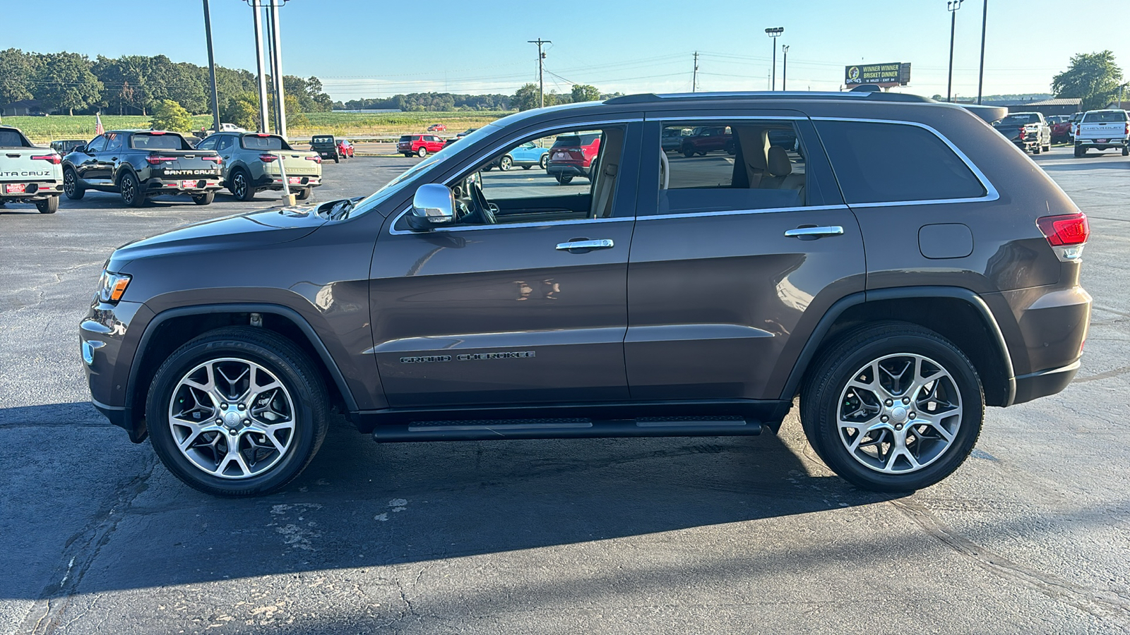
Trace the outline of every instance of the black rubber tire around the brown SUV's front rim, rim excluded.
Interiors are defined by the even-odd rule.
[[[273,374],[293,402],[294,428],[285,442],[285,451],[261,472],[241,478],[214,476],[198,467],[177,447],[174,432],[167,424],[172,400],[176,397],[174,391],[181,380],[201,364],[221,358],[247,360]],[[310,464],[325,438],[328,403],[321,375],[302,350],[272,331],[234,327],[207,332],[165,359],[149,385],[146,418],[151,421],[149,441],[154,451],[168,471],[184,484],[214,496],[261,496],[285,487]],[[243,432],[241,440],[244,434],[250,436],[252,433]]]

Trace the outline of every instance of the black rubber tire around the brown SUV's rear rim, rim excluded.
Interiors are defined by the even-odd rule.
[[[866,375],[866,367],[871,360],[879,360],[885,356],[903,354],[919,355],[932,359],[949,374],[951,381],[948,381],[941,390],[942,392],[947,392],[947,389],[951,389],[959,397],[960,406],[955,408],[954,412],[960,415],[960,421],[957,432],[953,435],[953,440],[948,445],[945,445],[938,452],[937,456],[927,461],[923,467],[902,473],[883,473],[877,471],[877,469],[867,467],[862,460],[857,458],[858,454],[862,453],[862,450],[857,450],[857,453],[849,450],[845,445],[847,441],[844,437],[850,434],[846,430],[853,428],[845,427],[842,430],[837,420],[841,408],[857,407],[859,408],[857,412],[863,410],[861,406],[850,403],[849,400],[851,399],[855,399],[859,403],[862,403],[862,398],[857,397],[853,392],[847,392],[847,383]],[[898,362],[897,358],[895,358],[895,362]],[[860,375],[860,377],[857,377],[857,375]],[[940,385],[941,382],[939,380],[935,385]],[[948,394],[945,397],[949,400],[954,395]],[[843,403],[841,403],[841,398],[845,399]],[[918,401],[918,405],[915,405],[915,401]],[[940,398],[937,399],[937,402],[941,401]],[[898,425],[905,426],[906,430],[902,434],[910,433],[913,435],[915,429],[920,427],[911,421],[914,419],[913,412],[916,410],[921,409],[923,412],[927,412],[929,405],[927,405],[927,409],[923,409],[920,406],[921,403],[921,400],[912,399],[910,406],[903,408],[902,412],[899,412],[905,423]],[[897,398],[893,405],[896,409],[898,408]],[[881,412],[886,411],[883,409],[883,403],[876,403],[876,408],[878,410],[868,410],[868,412],[873,412],[871,419],[867,420],[868,424],[875,421]],[[940,412],[944,412],[944,410],[940,410]],[[923,417],[928,416],[923,415]],[[938,333],[905,322],[881,321],[852,329],[844,333],[831,346],[824,348],[820,355],[812,362],[800,393],[801,425],[805,428],[808,442],[816,453],[844,480],[877,492],[913,492],[929,487],[949,476],[965,461],[966,456],[973,450],[977,436],[981,434],[983,419],[984,392],[976,369],[968,357],[954,346],[954,343]],[[884,423],[888,420],[898,419],[896,415],[892,415],[890,418],[884,419]],[[892,425],[894,426],[895,424]],[[925,426],[921,427],[925,428]],[[887,429],[892,435],[895,434],[894,428],[888,427]],[[898,429],[903,428],[899,427]],[[857,432],[855,434],[861,433]],[[923,443],[933,443],[936,447],[937,441],[938,438],[933,438]],[[881,449],[883,445],[872,445],[871,447]],[[889,445],[888,447],[893,449],[894,446]],[[916,447],[919,452],[923,450],[929,452],[930,450],[930,446],[927,445]],[[889,459],[889,464],[897,463],[899,460],[898,456],[895,455],[893,459]],[[919,459],[921,459],[921,454]],[[905,459],[903,462],[904,464],[910,464]]]

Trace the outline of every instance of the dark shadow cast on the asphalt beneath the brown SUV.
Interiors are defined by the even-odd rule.
[[[812,476],[823,470],[790,449],[796,438],[786,444],[770,433],[376,444],[336,417],[319,454],[285,490],[225,499],[181,484],[148,444],[130,444],[87,403],[0,409],[6,444],[20,442],[14,427],[97,440],[97,452],[71,456],[66,469],[38,467],[36,479],[14,482],[101,501],[89,517],[72,519],[79,529],[35,542],[42,554],[29,559],[55,559],[56,577],[45,595],[27,599],[495,554],[895,498]],[[129,460],[111,468],[104,453]],[[66,506],[35,494],[0,494],[0,503],[42,506],[20,510],[6,532]],[[8,585],[0,595],[20,593],[29,589]]]

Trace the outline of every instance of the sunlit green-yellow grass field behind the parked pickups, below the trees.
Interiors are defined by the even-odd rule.
[[[460,112],[409,112],[409,113],[306,113],[308,125],[288,125],[292,139],[303,139],[311,134],[384,136],[408,132],[424,132],[433,123],[447,125],[446,134],[455,134],[468,128],[478,128],[507,112],[460,111]],[[6,116],[5,125],[14,125],[36,143],[55,139],[90,139],[94,137],[94,115],[52,116]],[[193,115],[192,127],[211,128],[211,115]],[[106,130],[149,128],[149,118],[144,115],[104,115],[102,124]],[[444,134],[441,132],[441,134]]]

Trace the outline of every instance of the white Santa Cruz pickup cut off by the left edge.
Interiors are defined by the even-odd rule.
[[[18,129],[0,125],[0,206],[29,202],[43,214],[59,211],[61,163],[51,148],[33,146]]]

